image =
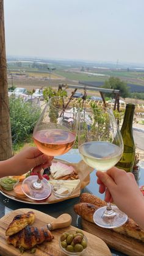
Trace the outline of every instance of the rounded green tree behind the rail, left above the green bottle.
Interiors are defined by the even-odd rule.
[[[111,76],[104,82],[103,88],[120,90],[120,96],[123,98],[129,96],[129,87],[126,85],[126,82],[120,80],[120,78]],[[107,93],[107,96],[113,97],[113,93]]]

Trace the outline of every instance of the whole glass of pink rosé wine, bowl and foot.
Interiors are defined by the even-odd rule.
[[[38,149],[48,156],[67,153],[74,145],[78,126],[78,108],[68,98],[52,97],[35,125],[33,139]],[[51,185],[37,175],[23,181],[23,192],[34,200],[44,200],[51,195]]]

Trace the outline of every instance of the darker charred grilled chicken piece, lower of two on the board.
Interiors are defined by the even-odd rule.
[[[37,227],[27,225],[20,232],[9,236],[7,242],[18,248],[31,249],[36,244],[51,241],[52,239],[54,239],[54,236],[48,229],[38,229]]]

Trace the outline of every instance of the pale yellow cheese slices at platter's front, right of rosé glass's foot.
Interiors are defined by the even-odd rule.
[[[77,186],[79,185],[80,183],[80,180],[49,180],[49,183],[51,185],[62,185],[62,186],[65,186],[67,187],[68,189],[70,189],[70,192],[72,193],[76,188]]]

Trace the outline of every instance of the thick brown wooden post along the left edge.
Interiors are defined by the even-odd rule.
[[[12,157],[7,61],[5,55],[4,0],[0,0],[0,161]]]

